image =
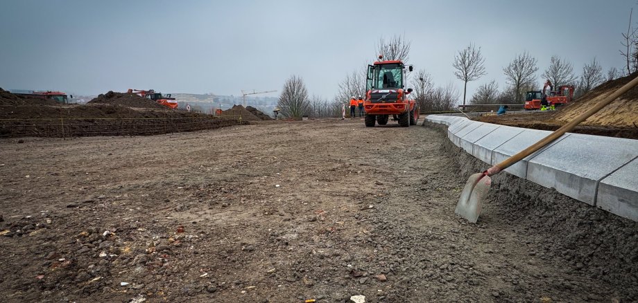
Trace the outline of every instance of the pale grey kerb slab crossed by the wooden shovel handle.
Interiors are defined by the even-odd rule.
[[[501,161],[509,158],[510,156],[514,156],[518,152],[527,147],[530,147],[534,143],[537,143],[542,138],[545,138],[547,135],[551,134],[551,131],[539,131],[536,129],[525,129],[520,134],[512,137],[506,143],[503,143],[501,146],[494,149],[492,152],[492,165],[496,165]],[[559,139],[560,140],[560,139]],[[527,156],[523,160],[520,160],[518,163],[513,164],[512,166],[505,169],[506,172],[513,174],[519,178],[526,178],[527,176],[527,162],[531,158],[534,158],[538,153],[542,152],[538,151],[530,156]]]

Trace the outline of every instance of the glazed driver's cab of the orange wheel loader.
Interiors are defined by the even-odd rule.
[[[368,65],[365,91],[370,89],[404,89],[405,65],[401,61],[377,61]]]

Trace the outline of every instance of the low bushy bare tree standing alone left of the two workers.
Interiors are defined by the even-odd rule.
[[[286,80],[277,107],[282,109],[282,114],[287,117],[300,118],[309,111],[308,90],[302,77],[291,75]]]

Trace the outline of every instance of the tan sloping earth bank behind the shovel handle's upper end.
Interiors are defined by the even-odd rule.
[[[637,76],[638,73],[633,73],[626,77],[607,81],[574,100],[567,107],[556,111],[550,118],[557,122],[569,122]],[[598,111],[594,116],[589,117],[583,122],[583,125],[638,127],[638,87],[630,89],[627,93],[621,95],[620,98]]]

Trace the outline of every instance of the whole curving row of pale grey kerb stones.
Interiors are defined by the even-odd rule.
[[[485,126],[488,124],[484,123],[472,131],[466,131],[464,136],[454,136],[472,123],[468,122],[467,118],[458,116],[447,116],[443,119],[426,118],[426,120],[449,125],[447,129],[450,140],[458,137],[462,145],[472,145],[472,156],[491,165],[517,154],[551,133],[551,131],[503,125],[488,127]],[[492,127],[495,129],[489,131],[488,129]],[[472,142],[483,133],[486,134]],[[571,139],[568,140],[568,138]],[[598,142],[599,140],[605,142]],[[468,146],[463,148],[469,153]],[[575,150],[578,152],[574,152]],[[571,169],[567,169],[569,167]],[[596,170],[601,172],[598,173]],[[506,172],[519,178],[530,179],[544,187],[553,187],[566,196],[596,205],[598,208],[632,221],[638,221],[638,178],[636,177],[638,176],[638,140],[565,134],[521,162],[512,165],[506,169]],[[589,177],[580,176],[583,174]],[[567,175],[571,176],[565,177]],[[594,181],[595,186],[592,192],[592,180],[598,176],[600,177]],[[583,177],[589,180],[583,183],[581,182]],[[566,178],[571,181],[563,182],[564,184],[555,182]],[[569,194],[570,190],[572,194]],[[579,194],[573,194],[574,192]]]

